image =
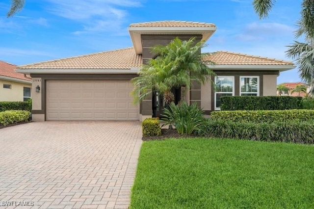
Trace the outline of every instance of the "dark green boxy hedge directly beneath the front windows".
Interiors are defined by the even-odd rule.
[[[224,96],[221,110],[301,109],[302,97],[289,96]]]

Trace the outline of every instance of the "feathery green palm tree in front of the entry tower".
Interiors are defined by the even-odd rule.
[[[208,54],[201,53],[204,42],[194,44],[194,40],[195,38],[181,41],[175,38],[166,46],[153,47],[152,52],[158,56],[149,60],[147,65],[142,65],[138,77],[131,80],[134,85],[131,94],[135,103],[155,92],[170,100],[167,101],[170,103],[173,98],[171,90],[180,87],[183,87],[181,94],[183,101],[185,88],[191,87],[192,79],[202,84],[211,81],[210,77],[215,74],[207,67],[207,63],[202,61]]]

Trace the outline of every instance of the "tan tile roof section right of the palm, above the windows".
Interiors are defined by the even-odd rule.
[[[289,61],[226,51],[211,53],[204,61],[212,61],[216,65],[293,65]]]

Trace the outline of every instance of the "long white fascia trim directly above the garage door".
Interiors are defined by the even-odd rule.
[[[17,69],[18,73],[24,74],[137,74],[138,67],[132,67],[130,70],[122,69]]]

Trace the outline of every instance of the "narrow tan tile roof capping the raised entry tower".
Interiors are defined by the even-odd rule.
[[[133,23],[130,25],[130,27],[215,27],[215,24],[188,21],[156,21]]]

